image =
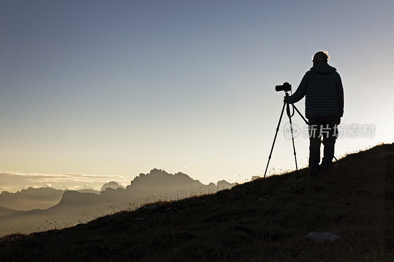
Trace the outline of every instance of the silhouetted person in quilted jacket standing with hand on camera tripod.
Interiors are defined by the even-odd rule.
[[[334,145],[338,136],[337,124],[343,116],[343,87],[336,69],[328,65],[327,53],[313,57],[313,67],[305,73],[296,92],[285,97],[294,104],[305,96],[305,116],[309,122],[309,170],[311,175],[332,167]],[[320,144],[323,136],[324,156],[320,163]]]

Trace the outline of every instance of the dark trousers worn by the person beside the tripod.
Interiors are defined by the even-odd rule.
[[[337,124],[340,123],[340,117],[317,117],[309,120],[309,170],[319,171],[320,163],[320,144],[323,136],[323,160],[322,169],[328,169],[332,166],[334,158],[334,145],[338,136]]]

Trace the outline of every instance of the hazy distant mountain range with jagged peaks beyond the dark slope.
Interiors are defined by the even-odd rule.
[[[78,190],[80,191],[78,192],[53,188],[28,188],[14,194],[8,192],[4,194],[3,192],[0,194],[0,206],[2,206],[0,209],[0,235],[7,233],[9,228],[12,228],[13,232],[48,229],[53,225],[49,224],[51,222],[56,222],[58,225],[73,225],[120,209],[132,209],[159,199],[179,199],[191,195],[214,193],[234,185],[235,183],[231,184],[225,180],[218,181],[217,184],[204,185],[180,172],[172,175],[164,170],[153,169],[146,175],[140,174],[135,177],[126,188],[116,182],[110,182],[103,186],[105,190],[101,192],[89,192],[92,189]],[[46,197],[40,197],[40,193]],[[2,196],[3,194],[4,196]],[[29,211],[13,210],[17,209],[15,206],[28,210],[29,205],[23,203],[29,198],[36,200],[36,203],[40,203],[42,206],[55,204],[49,208]],[[15,205],[12,206],[9,203]]]

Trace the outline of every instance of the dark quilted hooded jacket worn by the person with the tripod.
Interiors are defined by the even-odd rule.
[[[296,92],[287,98],[294,104],[305,96],[305,117],[343,116],[343,87],[336,69],[328,63],[305,73]]]

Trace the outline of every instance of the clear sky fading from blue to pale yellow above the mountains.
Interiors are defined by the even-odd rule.
[[[265,169],[282,108],[275,85],[295,90],[320,50],[342,77],[342,123],[376,124],[374,138],[338,139],[336,155],[391,142],[393,9],[392,0],[1,1],[0,171],[249,179]],[[296,106],[303,113],[304,99]],[[308,146],[296,138],[301,167]],[[283,128],[271,167],[294,168]]]

